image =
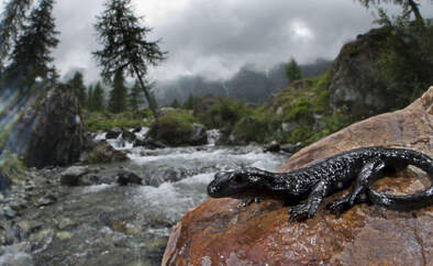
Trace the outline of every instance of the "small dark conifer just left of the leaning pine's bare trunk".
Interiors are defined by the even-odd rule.
[[[113,89],[110,91],[109,111],[120,113],[126,111],[127,88],[124,86],[124,77],[121,70],[114,76]]]

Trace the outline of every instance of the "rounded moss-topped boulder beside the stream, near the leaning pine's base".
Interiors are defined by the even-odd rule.
[[[170,111],[152,123],[148,134],[170,146],[180,146],[188,143],[196,122],[198,120],[188,111]]]

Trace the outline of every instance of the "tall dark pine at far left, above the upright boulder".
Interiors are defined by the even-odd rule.
[[[26,19],[4,73],[10,86],[31,87],[37,77],[51,80],[57,77],[51,64],[54,60],[51,51],[58,44],[53,4],[54,0],[41,0]]]

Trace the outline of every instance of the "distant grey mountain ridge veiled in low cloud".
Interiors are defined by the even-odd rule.
[[[314,63],[300,65],[304,77],[313,77],[325,71],[332,60],[317,59]],[[159,106],[169,106],[175,99],[184,102],[189,96],[225,96],[245,102],[263,103],[269,96],[287,87],[285,63],[273,66],[267,71],[259,71],[251,65],[242,67],[226,80],[208,80],[200,75],[182,76],[175,80],[159,81],[154,90]]]

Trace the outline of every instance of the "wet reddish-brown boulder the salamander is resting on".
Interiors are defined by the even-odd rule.
[[[293,170],[360,146],[407,147],[433,156],[433,87],[408,108],[336,132],[295,154],[279,168]],[[409,168],[399,176],[423,176]],[[424,175],[425,177],[425,175]],[[421,181],[420,181],[421,180]],[[413,192],[428,181],[385,178],[381,188]],[[330,197],[332,201],[342,193]],[[238,208],[240,200],[208,199],[175,226],[163,265],[430,265],[433,207],[410,212],[358,204],[340,218],[323,210],[287,222],[278,201]]]

